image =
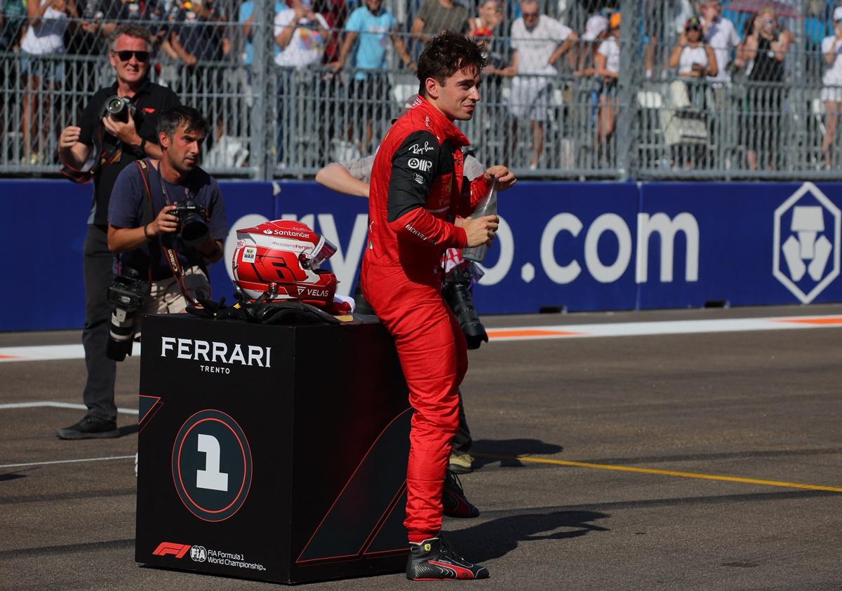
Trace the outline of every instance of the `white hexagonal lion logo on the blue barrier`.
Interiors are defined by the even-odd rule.
[[[803,304],[839,276],[840,222],[842,212],[813,183],[775,210],[772,274]]]

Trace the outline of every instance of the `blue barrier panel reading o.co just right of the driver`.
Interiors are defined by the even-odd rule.
[[[635,306],[635,184],[527,183],[499,195],[498,240],[474,290],[480,313]]]

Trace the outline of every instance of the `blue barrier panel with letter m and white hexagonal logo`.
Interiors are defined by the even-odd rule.
[[[842,301],[842,184],[644,184],[639,308]]]

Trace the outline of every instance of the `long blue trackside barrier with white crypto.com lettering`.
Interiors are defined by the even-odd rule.
[[[233,229],[298,219],[338,246],[340,291],[353,291],[367,202],[313,182],[223,182],[232,232],[211,269],[232,295]],[[90,189],[3,180],[0,330],[83,325]],[[842,301],[842,184],[537,183],[501,195],[498,241],[475,290],[480,313],[635,310]],[[11,215],[11,212],[16,215]]]

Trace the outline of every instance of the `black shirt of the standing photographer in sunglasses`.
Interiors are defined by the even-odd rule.
[[[94,158],[99,158],[99,154],[103,150],[119,143],[115,136],[105,130],[102,123],[105,101],[116,93],[116,82],[109,87],[100,88],[93,95],[93,99],[88,103],[82,114],[82,124],[79,125],[82,131],[79,133],[79,141],[85,146],[93,148],[91,156]],[[132,103],[135,105],[134,117],[137,135],[147,142],[157,144],[157,132],[155,131],[157,115],[178,105],[179,98],[169,88],[150,83],[147,80],[135,93]],[[99,168],[93,175],[93,201],[88,223],[101,226],[108,224],[108,202],[117,175],[137,158],[138,156],[133,150],[124,149],[119,162]]]

